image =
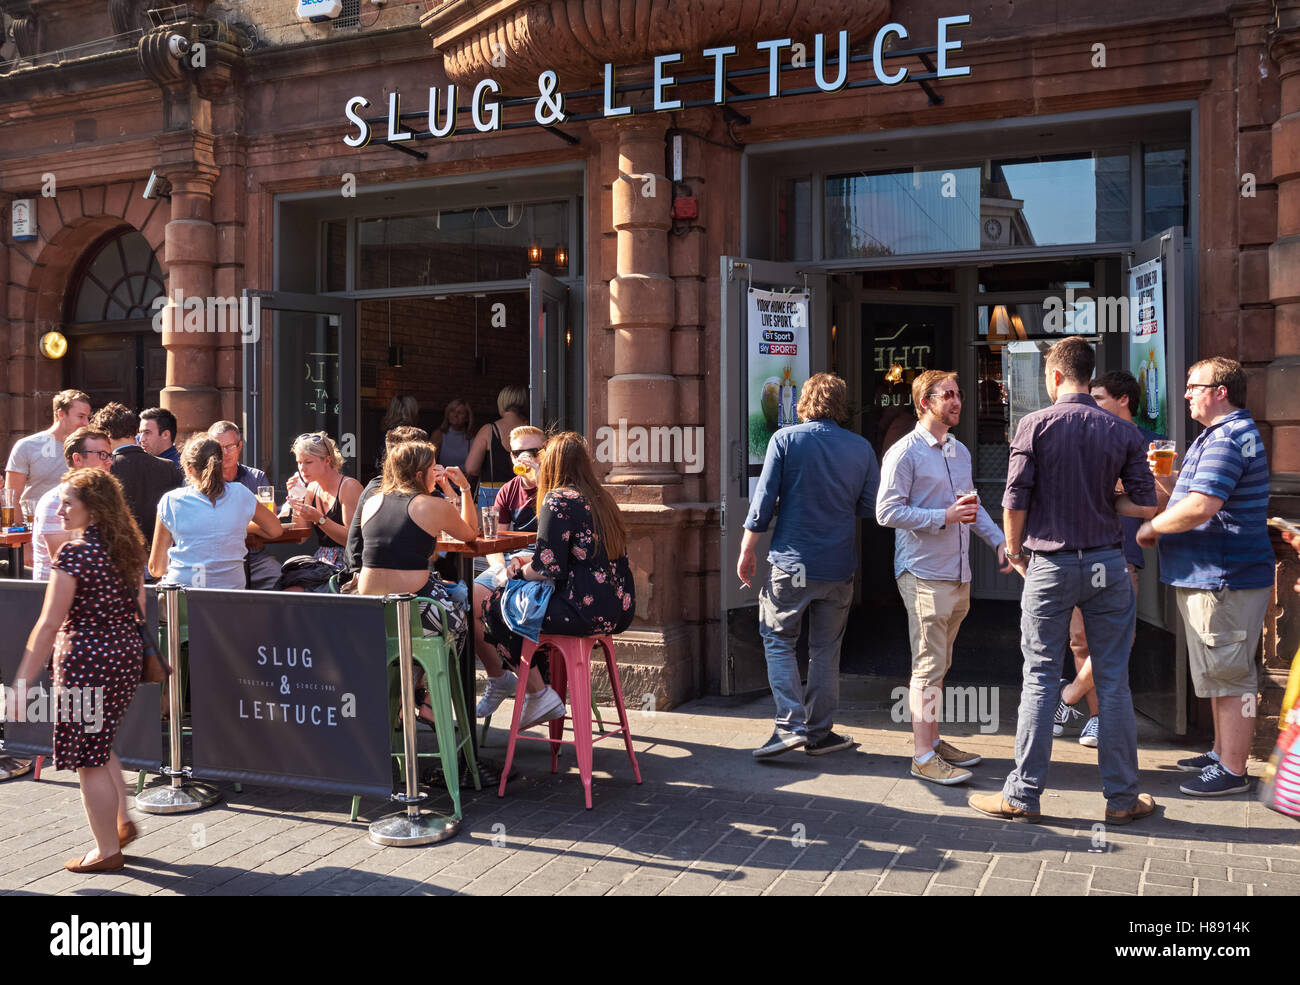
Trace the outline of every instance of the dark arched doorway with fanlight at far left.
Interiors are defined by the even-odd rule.
[[[95,407],[157,407],[166,351],[152,305],[166,283],[148,240],[134,229],[113,230],[86,251],[70,283],[64,386],[84,390]]]

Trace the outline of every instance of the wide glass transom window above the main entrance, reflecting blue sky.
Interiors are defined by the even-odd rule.
[[[826,256],[1008,249],[1131,239],[1128,152],[826,179]]]

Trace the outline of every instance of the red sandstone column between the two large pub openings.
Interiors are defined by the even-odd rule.
[[[618,261],[610,281],[614,376],[607,422],[615,430],[620,421],[629,428],[671,428],[680,420],[671,340],[676,303],[668,274],[672,182],[663,174],[668,121],[662,114],[638,116],[612,129],[619,155],[614,181]],[[681,477],[672,463],[615,457],[606,481],[662,486],[680,483]]]

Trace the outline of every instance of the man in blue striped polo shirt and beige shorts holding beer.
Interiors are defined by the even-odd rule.
[[[1169,508],[1143,524],[1138,543],[1150,547],[1158,538],[1160,580],[1176,589],[1192,686],[1214,710],[1214,748],[1178,764],[1197,774],[1179,790],[1223,797],[1251,786],[1245,758],[1258,690],[1254,651],[1273,590],[1269,463],[1245,409],[1240,363],[1202,359],[1187,374],[1184,396],[1205,430],[1183,457]],[[1161,481],[1167,485],[1174,476]]]

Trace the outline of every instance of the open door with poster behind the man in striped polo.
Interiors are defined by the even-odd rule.
[[[1141,391],[1134,421],[1171,438],[1179,454],[1187,451],[1188,442],[1187,405],[1182,399],[1188,366],[1183,264],[1183,227],[1174,226],[1139,244],[1124,272],[1128,292],[1124,364]],[[1128,665],[1134,707],[1175,736],[1183,736],[1188,725],[1183,620],[1174,604],[1174,589],[1160,581],[1157,551],[1145,551],[1145,567],[1139,574],[1138,643]],[[1164,646],[1147,642],[1154,634],[1150,628],[1173,634],[1173,658],[1167,642]]]

